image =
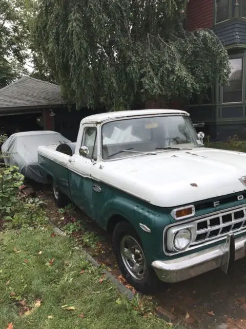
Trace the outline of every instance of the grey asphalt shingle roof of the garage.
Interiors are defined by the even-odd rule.
[[[61,105],[60,87],[50,82],[23,77],[0,89],[0,111],[12,107]]]

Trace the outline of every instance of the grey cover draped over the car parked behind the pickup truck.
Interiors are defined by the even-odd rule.
[[[71,143],[69,139],[53,131],[23,132],[11,135],[2,145],[6,165],[18,166],[20,173],[44,182],[39,172],[37,148],[41,145]]]

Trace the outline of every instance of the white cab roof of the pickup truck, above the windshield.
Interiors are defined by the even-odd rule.
[[[88,116],[81,120],[80,124],[84,123],[101,123],[106,120],[113,120],[119,118],[127,118],[127,117],[136,117],[136,116],[149,116],[149,115],[161,115],[161,114],[181,114],[187,115],[189,114],[185,111],[181,111],[179,109],[137,109],[133,111],[116,111],[116,112],[107,112],[100,113]]]

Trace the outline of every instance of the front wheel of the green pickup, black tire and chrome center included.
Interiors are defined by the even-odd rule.
[[[135,253],[132,250],[135,250]],[[141,293],[155,293],[160,286],[160,281],[155,271],[148,266],[139,236],[129,223],[119,222],[115,226],[113,251],[119,269],[127,282]],[[132,261],[132,255],[135,257],[134,261]]]

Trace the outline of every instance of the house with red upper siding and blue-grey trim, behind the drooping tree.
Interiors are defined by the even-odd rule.
[[[194,122],[203,121],[212,138],[246,138],[246,0],[190,0],[186,28],[209,28],[226,47],[231,64],[230,85],[215,83],[206,98],[187,106]]]

